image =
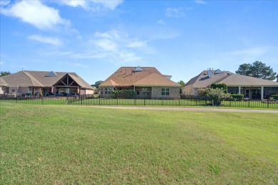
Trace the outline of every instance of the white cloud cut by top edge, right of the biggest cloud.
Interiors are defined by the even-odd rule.
[[[68,6],[81,6],[83,9],[96,11],[101,8],[114,10],[123,3],[123,0],[63,0],[62,3]]]

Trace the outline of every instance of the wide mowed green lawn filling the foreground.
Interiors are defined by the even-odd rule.
[[[0,184],[278,184],[278,114],[0,111]]]

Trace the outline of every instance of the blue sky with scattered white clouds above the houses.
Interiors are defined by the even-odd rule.
[[[1,71],[75,72],[90,84],[121,66],[185,81],[256,60],[278,72],[278,1],[0,0]]]

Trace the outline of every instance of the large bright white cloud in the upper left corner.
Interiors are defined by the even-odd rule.
[[[19,1],[11,7],[1,7],[1,14],[20,18],[21,21],[41,30],[55,30],[57,26],[70,26],[71,22],[61,18],[57,9],[41,3],[41,1]]]

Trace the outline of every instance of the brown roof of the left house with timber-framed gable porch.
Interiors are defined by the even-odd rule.
[[[66,74],[70,75],[81,88],[92,89],[91,85],[86,83],[86,81],[76,73],[24,70],[11,75],[5,75],[3,78],[9,85],[43,88],[52,87],[52,85],[57,83],[58,80],[61,80]]]

